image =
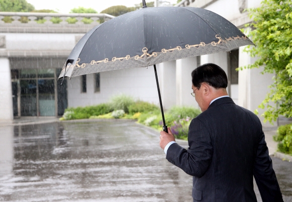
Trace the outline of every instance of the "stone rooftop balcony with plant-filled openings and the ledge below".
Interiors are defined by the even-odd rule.
[[[0,33],[86,33],[108,14],[0,12]]]

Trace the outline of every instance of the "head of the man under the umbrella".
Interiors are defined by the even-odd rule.
[[[216,64],[203,64],[192,72],[192,89],[202,111],[213,99],[228,95],[227,85],[226,73]]]

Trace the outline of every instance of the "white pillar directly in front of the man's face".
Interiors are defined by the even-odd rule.
[[[176,60],[176,104],[179,106],[194,106],[199,108],[193,92],[191,73],[197,68],[197,58],[188,57]]]

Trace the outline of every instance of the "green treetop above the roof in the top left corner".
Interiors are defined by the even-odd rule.
[[[0,0],[1,12],[31,12],[34,6],[26,0]]]

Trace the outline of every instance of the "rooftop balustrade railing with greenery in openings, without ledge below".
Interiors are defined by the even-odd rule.
[[[108,14],[61,14],[0,12],[0,24],[98,24],[110,20]]]

